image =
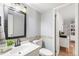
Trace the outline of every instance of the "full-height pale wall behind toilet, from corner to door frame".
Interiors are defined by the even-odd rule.
[[[41,36],[45,44],[45,48],[54,53],[55,22],[53,16],[53,10],[41,14]]]

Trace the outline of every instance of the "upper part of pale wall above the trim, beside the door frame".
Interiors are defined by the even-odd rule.
[[[48,11],[41,15],[41,35],[42,36],[52,36],[52,22],[53,22],[53,12]]]

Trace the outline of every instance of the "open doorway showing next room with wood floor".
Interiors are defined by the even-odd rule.
[[[56,14],[56,55],[75,56],[75,4],[55,9]]]

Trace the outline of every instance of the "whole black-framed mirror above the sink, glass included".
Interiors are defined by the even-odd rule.
[[[26,37],[26,14],[5,6],[4,30],[6,39]]]

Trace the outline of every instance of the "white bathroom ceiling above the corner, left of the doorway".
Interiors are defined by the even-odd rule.
[[[44,13],[62,4],[64,3],[30,3],[28,5],[38,12]]]

